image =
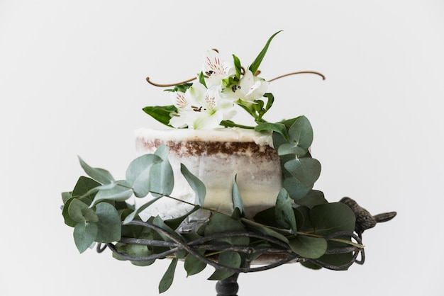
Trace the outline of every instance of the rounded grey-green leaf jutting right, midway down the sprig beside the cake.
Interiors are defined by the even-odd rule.
[[[311,157],[292,159],[284,164],[289,171],[303,186],[310,187],[321,175],[321,163]]]

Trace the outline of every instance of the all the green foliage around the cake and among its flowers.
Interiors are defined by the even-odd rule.
[[[257,72],[274,35],[250,66],[253,73]],[[242,71],[237,58],[235,58],[235,67],[236,76],[230,80],[231,84],[238,83],[240,77],[238,75]],[[180,84],[170,91],[186,91],[189,87],[190,84]],[[326,254],[326,251],[340,246],[353,245],[358,248],[362,248],[362,246],[351,241],[350,237],[330,240],[327,240],[326,237],[337,232],[353,233],[355,214],[347,205],[328,203],[321,191],[313,190],[313,184],[321,173],[321,164],[313,159],[309,152],[313,140],[313,130],[309,120],[304,116],[299,116],[279,123],[267,123],[263,119],[263,115],[272,106],[274,98],[271,93],[265,93],[264,97],[267,98],[267,103],[255,100],[252,104],[241,104],[241,106],[253,116],[257,124],[255,127],[245,128],[254,128],[259,132],[272,131],[274,149],[280,157],[284,177],[283,187],[277,196],[276,205],[257,213],[253,220],[245,219],[242,197],[238,191],[237,183],[234,183],[234,207],[231,215],[206,208],[204,207],[206,193],[204,183],[182,164],[182,175],[187,179],[196,197],[192,204],[193,210],[187,215],[173,220],[164,221],[157,216],[151,217],[148,222],[164,229],[185,243],[193,239],[229,232],[265,234],[289,246],[299,258],[311,258],[333,266],[343,266],[352,259],[352,251],[335,255]],[[146,107],[144,111],[161,123],[169,125],[171,113],[177,112],[177,108],[175,106],[155,106]],[[230,120],[221,121],[221,125],[239,126]],[[167,155],[167,147],[160,146],[154,154],[139,156],[129,164],[124,180],[116,180],[109,171],[89,166],[79,158],[80,165],[87,176],[79,177],[72,191],[62,193],[62,215],[65,224],[74,227],[74,242],[80,253],[96,243],[116,243],[118,254],[136,257],[162,254],[169,249],[123,242],[123,238],[170,241],[168,237],[162,236],[153,229],[132,223],[141,221],[140,212],[155,201],[161,198],[176,199],[170,195],[174,186],[174,178]],[[168,177],[165,178],[165,176]],[[152,195],[152,200],[145,205],[135,208],[131,203],[133,196],[144,198],[148,195]],[[292,205],[293,201],[297,207]],[[195,234],[179,233],[177,229],[182,221],[198,209],[211,211],[209,220]],[[226,237],[218,243],[231,246],[272,246],[270,242],[252,237]],[[216,253],[219,263],[235,268],[244,266],[246,261],[257,257],[257,254],[243,254],[236,251],[218,251]],[[113,254],[113,256],[123,260],[123,256],[118,254]],[[203,256],[214,255],[213,252],[205,253],[204,251],[201,254]],[[199,261],[185,250],[177,251],[169,258],[172,259],[172,262],[160,281],[159,292],[165,292],[170,288],[177,260],[184,261],[187,275],[199,273],[206,267],[206,263]],[[131,261],[131,263],[137,266],[149,266],[154,261]],[[320,268],[309,262],[302,261],[301,264],[308,268]],[[216,268],[209,279],[222,280],[232,274],[233,272]]]

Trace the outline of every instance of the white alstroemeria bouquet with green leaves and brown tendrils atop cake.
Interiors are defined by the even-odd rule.
[[[311,71],[293,72],[270,80],[258,76],[270,42],[279,32],[267,40],[265,47],[248,67],[243,67],[236,55],[232,59],[223,59],[217,50],[206,50],[200,72],[192,79],[178,84],[157,84],[147,77],[152,85],[173,87],[166,89],[170,93],[172,105],[148,106],[143,110],[169,127],[192,130],[240,127],[259,132],[272,130],[286,136],[282,122],[269,123],[264,118],[274,103],[274,96],[267,92],[270,82],[302,73],[317,74],[323,79],[325,77]],[[238,110],[251,115],[255,124],[247,126],[235,123],[233,118]]]

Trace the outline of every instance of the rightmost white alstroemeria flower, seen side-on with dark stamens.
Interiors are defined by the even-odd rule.
[[[243,101],[243,103],[252,103],[262,98],[268,89],[268,82],[265,79],[254,76],[250,70],[240,78],[239,84],[231,89],[223,91],[227,98]]]

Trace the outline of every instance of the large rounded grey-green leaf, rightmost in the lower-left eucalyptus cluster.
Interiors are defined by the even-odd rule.
[[[99,217],[97,224],[96,241],[111,243],[121,239],[122,225],[121,217],[113,205],[99,203],[96,205],[96,214]]]

